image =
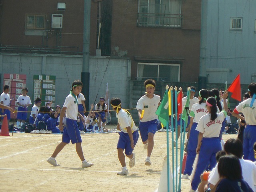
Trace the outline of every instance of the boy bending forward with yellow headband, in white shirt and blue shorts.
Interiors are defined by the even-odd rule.
[[[122,109],[121,100],[119,98],[112,98],[110,104],[114,111],[116,111],[116,118],[118,120],[117,129],[119,132],[119,139],[117,143],[118,159],[122,166],[122,171],[118,172],[118,175],[128,175],[128,170],[125,163],[125,155],[130,159],[130,168],[135,165],[135,153],[133,153],[134,147],[138,141],[139,134],[132,119],[131,114]]]

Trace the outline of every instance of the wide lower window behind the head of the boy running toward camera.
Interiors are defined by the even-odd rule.
[[[138,63],[138,80],[180,81],[180,64]]]

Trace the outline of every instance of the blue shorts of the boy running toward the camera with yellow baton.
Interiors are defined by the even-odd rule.
[[[143,142],[148,140],[148,133],[153,133],[153,134],[156,133],[157,125],[158,125],[157,119],[146,121],[146,122],[140,121],[140,124],[139,124],[140,137]]]

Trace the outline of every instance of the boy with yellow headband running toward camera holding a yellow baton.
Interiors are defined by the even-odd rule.
[[[145,165],[151,165],[150,156],[154,148],[154,134],[157,130],[158,116],[155,114],[160,105],[160,96],[154,94],[156,82],[153,79],[148,79],[144,82],[146,95],[142,96],[137,102],[138,116],[140,118],[140,137],[144,144],[144,149],[148,150],[148,156],[145,160]],[[142,110],[144,116],[141,117]]]

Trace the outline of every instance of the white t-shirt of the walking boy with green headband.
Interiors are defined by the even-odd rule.
[[[74,96],[69,94],[66,99],[63,107],[66,107],[66,118],[77,120],[78,106]]]

